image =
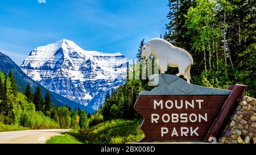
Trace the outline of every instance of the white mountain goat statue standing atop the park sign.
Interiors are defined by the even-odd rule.
[[[168,66],[178,68],[179,73],[176,76],[184,76],[187,82],[190,83],[191,76],[189,72],[191,65],[193,65],[193,58],[187,51],[160,38],[151,39],[146,45],[143,45],[141,50],[141,58],[147,60],[152,55],[155,60],[158,60],[160,73],[165,73]]]

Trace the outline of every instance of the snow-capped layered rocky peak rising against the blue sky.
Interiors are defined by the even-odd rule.
[[[123,83],[126,67],[127,58],[119,52],[85,51],[65,39],[35,48],[20,66],[48,90],[94,110]]]

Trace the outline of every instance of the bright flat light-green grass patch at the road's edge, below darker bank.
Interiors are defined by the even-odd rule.
[[[68,133],[63,133],[62,136],[52,136],[46,144],[81,144],[81,142]]]

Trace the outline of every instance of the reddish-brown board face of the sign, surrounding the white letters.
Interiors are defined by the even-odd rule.
[[[221,107],[225,103],[226,98],[228,98],[228,95],[142,95],[139,96],[137,99],[137,102],[134,104],[135,110],[139,112],[144,118],[143,123],[141,124],[141,129],[144,132],[145,136],[142,141],[196,141],[196,140],[203,140],[207,132],[209,131],[210,126],[214,122],[214,119],[216,118],[218,112],[220,111]],[[177,108],[171,108],[168,109],[165,107],[166,100],[172,100],[173,103],[175,103],[175,100],[177,100],[177,103],[180,102],[180,100],[183,100],[183,103],[185,103],[185,100],[188,100],[189,103],[192,103],[191,100],[204,100],[204,102],[201,103],[201,108],[199,109],[198,104],[195,102],[195,108],[192,108],[188,106],[188,108],[185,108],[185,104],[183,104],[183,108],[177,109]],[[154,109],[154,100],[163,100],[163,109],[156,108]],[[180,104],[178,104],[180,105]],[[201,114],[204,116],[205,113],[207,113],[207,119],[208,121],[205,122],[203,119],[201,122],[189,122],[188,123],[164,123],[161,119],[163,114],[181,114],[185,113],[188,116],[190,114]],[[159,123],[151,123],[151,114],[158,114],[160,116]],[[171,117],[171,116],[170,116]],[[180,118],[179,118],[180,119]],[[173,137],[168,136],[167,134],[163,137],[161,134],[161,127],[167,127],[168,129],[172,130],[172,128],[176,128],[177,131],[180,130],[181,127],[190,127],[198,129],[199,136],[179,136],[179,137]]]

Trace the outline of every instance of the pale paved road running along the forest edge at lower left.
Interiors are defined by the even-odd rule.
[[[36,129],[24,131],[0,132],[0,144],[42,144],[51,136],[60,135],[70,129]]]

